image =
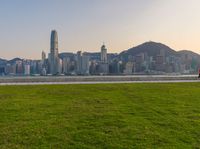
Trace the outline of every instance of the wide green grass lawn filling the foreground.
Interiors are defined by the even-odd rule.
[[[200,84],[0,86],[0,148],[200,148]]]

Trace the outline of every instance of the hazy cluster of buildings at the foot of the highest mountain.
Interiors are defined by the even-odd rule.
[[[200,68],[199,62],[193,56],[165,55],[164,50],[160,50],[155,56],[147,53],[129,55],[124,64],[124,74],[195,74]]]

